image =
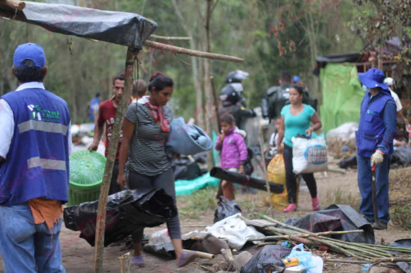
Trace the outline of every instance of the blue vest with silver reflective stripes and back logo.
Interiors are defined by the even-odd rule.
[[[68,201],[67,102],[44,89],[2,96],[14,115],[14,133],[0,167],[0,205],[45,197]]]

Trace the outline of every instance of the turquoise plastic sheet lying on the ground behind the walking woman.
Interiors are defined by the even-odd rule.
[[[217,187],[220,184],[220,179],[211,177],[210,173],[204,174],[193,180],[176,180],[176,195],[184,196],[191,195],[194,191],[210,186]]]

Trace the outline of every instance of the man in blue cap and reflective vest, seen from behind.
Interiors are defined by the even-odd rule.
[[[19,86],[0,98],[0,253],[4,272],[66,272],[59,234],[71,153],[67,102],[46,91],[39,45],[17,47]]]

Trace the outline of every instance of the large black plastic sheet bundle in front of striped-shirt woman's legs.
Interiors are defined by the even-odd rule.
[[[64,209],[64,224],[80,230],[80,238],[95,244],[99,201],[85,202]],[[173,198],[162,188],[139,188],[109,195],[107,198],[104,246],[126,238],[139,227],[163,224],[177,215]]]

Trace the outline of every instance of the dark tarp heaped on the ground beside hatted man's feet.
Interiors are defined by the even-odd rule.
[[[330,205],[322,211],[288,219],[285,224],[303,228],[312,233],[363,229],[364,233],[332,235],[331,238],[346,242],[375,244],[374,229],[349,205]]]

